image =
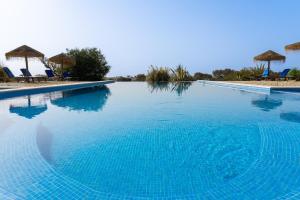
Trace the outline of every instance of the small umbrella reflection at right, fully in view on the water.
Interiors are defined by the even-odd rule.
[[[282,100],[281,99],[274,99],[271,98],[270,96],[265,96],[260,99],[252,100],[252,105],[260,108],[263,111],[271,111],[275,108],[278,108],[282,105]]]

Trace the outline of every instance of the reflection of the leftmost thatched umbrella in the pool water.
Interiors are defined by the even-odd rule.
[[[12,104],[9,107],[10,113],[15,113],[21,117],[25,117],[27,119],[32,119],[37,115],[40,115],[41,113],[45,112],[47,110],[47,104],[33,104],[31,101],[31,96],[27,96],[27,99],[25,100],[26,103],[21,103],[19,105]]]

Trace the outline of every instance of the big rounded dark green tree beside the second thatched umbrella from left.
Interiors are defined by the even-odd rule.
[[[72,77],[76,77],[80,81],[102,80],[110,70],[110,66],[100,49],[67,49],[67,53],[76,62],[69,69]]]

